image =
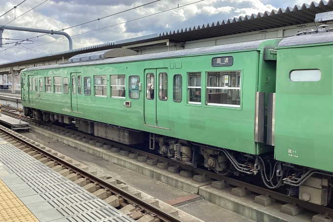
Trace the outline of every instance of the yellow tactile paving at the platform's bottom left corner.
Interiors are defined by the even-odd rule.
[[[1,179],[0,222],[39,222]]]

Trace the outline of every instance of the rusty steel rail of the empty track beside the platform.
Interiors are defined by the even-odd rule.
[[[142,199],[138,198],[137,196],[134,196],[133,194],[131,194],[129,192],[126,192],[125,190],[123,190],[123,189],[121,189],[121,188],[119,188],[119,187],[117,187],[113,184],[110,184],[110,183],[104,181],[103,179],[96,177],[93,174],[90,174],[90,173],[82,170],[81,168],[65,161],[64,159],[61,159],[60,157],[57,157],[56,155],[50,154],[48,151],[43,150],[42,148],[39,148],[36,145],[25,141],[23,138],[20,138],[17,135],[6,131],[5,129],[0,128],[0,132],[14,138],[15,140],[21,142],[25,146],[34,149],[38,153],[40,153],[42,155],[45,155],[50,160],[52,160],[54,162],[57,162],[60,165],[63,165],[65,167],[69,168],[70,170],[72,170],[73,172],[75,172],[77,174],[80,174],[83,178],[87,178],[87,179],[91,180],[96,185],[100,185],[101,187],[103,187],[107,191],[118,194],[119,197],[122,197],[124,200],[127,200],[131,204],[134,204],[134,203],[138,204],[138,206],[142,210],[145,210],[145,211],[151,213],[152,216],[157,216],[162,221],[165,221],[165,222],[183,222],[179,218],[177,218],[177,217],[175,217],[171,214],[166,213],[165,211],[161,210],[160,208],[156,207],[155,205],[143,201]]]

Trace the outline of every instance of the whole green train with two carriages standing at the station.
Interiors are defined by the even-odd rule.
[[[26,68],[24,114],[328,205],[333,33],[311,33]]]

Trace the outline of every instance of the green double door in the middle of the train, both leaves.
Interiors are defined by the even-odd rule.
[[[144,70],[144,123],[168,128],[167,68]]]

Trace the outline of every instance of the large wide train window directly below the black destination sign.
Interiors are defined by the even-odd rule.
[[[240,71],[207,72],[207,105],[240,107]]]

